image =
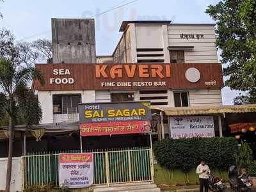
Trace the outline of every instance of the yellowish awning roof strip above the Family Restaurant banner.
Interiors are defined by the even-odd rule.
[[[220,114],[220,113],[256,112],[256,104],[244,104],[244,105],[237,105],[237,106],[197,106],[197,107],[155,108],[155,109],[164,111],[166,116],[210,115],[210,114]]]

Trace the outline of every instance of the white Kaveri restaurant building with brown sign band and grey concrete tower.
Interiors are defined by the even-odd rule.
[[[42,106],[41,125],[51,127],[51,132],[79,129],[81,102],[150,101],[152,113],[163,108],[221,106],[223,77],[214,26],[124,21],[113,54],[97,56],[93,19],[52,19],[52,63],[36,64],[45,84],[33,83]],[[218,136],[218,116],[213,119]],[[169,134],[166,116],[164,134]],[[97,143],[100,147],[104,142]]]

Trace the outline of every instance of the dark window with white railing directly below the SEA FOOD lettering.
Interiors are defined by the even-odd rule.
[[[53,114],[78,113],[81,95],[52,95]]]

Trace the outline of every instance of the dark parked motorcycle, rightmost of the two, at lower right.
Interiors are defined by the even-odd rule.
[[[252,183],[246,174],[239,175],[236,166],[230,166],[228,170],[230,188],[234,191],[250,191]]]

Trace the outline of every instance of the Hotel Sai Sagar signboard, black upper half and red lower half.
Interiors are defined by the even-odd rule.
[[[79,105],[82,136],[149,132],[150,119],[150,102]]]

